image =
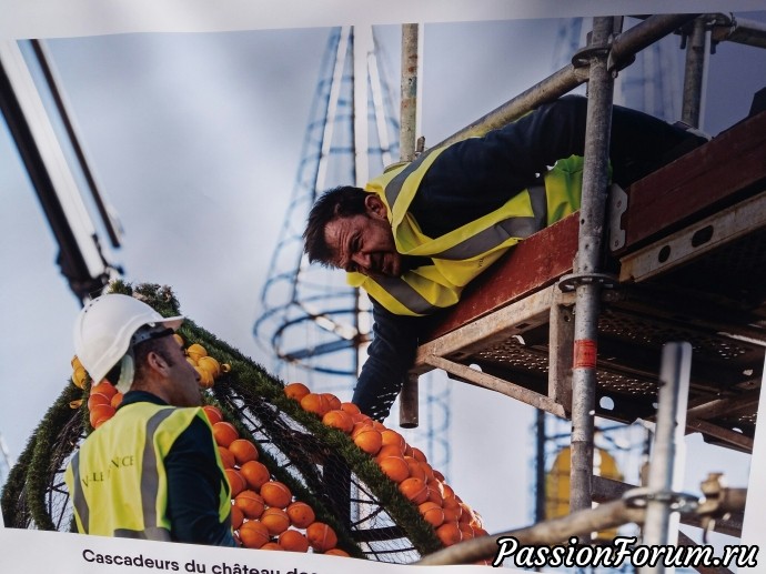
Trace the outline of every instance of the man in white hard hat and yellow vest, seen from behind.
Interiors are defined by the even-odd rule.
[[[81,533],[234,545],[231,491],[199,407],[199,375],[171,336],[182,321],[122,294],[78,315],[80,362],[93,381],[125,393],[67,467]]]

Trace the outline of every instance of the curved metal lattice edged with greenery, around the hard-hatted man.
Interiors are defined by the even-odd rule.
[[[117,289],[130,294],[130,288]],[[147,292],[142,294],[145,298]],[[169,291],[154,296],[160,300],[153,305],[158,311],[180,312],[174,299],[167,309]],[[204,393],[204,401],[220,406],[225,419],[244,431],[243,437],[250,435],[272,476],[309,503],[318,520],[333,525],[344,550],[360,557],[409,563],[441,547],[417,507],[347,435],[324,426],[284,395],[279,380],[190,320],[181,333],[187,342],[203,344],[211,355],[231,364],[231,372]],[[7,525],[73,530],[63,472],[85,435],[87,402],[79,409],[70,405],[82,397],[83,391],[68,385],[19,457],[3,490]]]

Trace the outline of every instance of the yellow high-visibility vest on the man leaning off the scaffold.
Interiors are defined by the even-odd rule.
[[[572,155],[544,173],[541,185],[514,194],[495,211],[458,229],[430,238],[407,210],[423,177],[444,149],[429,150],[365,187],[387,208],[396,251],[404,256],[432,260],[432,264],[406,271],[401,278],[347,274],[350,285],[364,289],[397,315],[426,315],[454,305],[463,288],[508,248],[579,209],[583,159]]]

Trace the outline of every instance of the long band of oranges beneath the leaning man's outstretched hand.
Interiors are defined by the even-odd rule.
[[[303,383],[288,384],[284,393],[373,456],[383,474],[417,506],[445,546],[487,534],[481,516],[454,493],[425,454],[410,446],[400,433],[362,414],[353,403],[342,403],[331,393],[312,393]]]

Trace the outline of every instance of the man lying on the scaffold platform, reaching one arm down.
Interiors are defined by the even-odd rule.
[[[340,187],[313,205],[309,260],[347,272],[373,303],[373,340],[353,402],[383,420],[414,359],[424,318],[508,248],[579,209],[587,100],[567,95],[482,138],[433,148],[364,190]],[[614,107],[612,179],[627,185],[704,138]]]

